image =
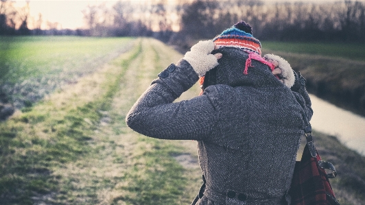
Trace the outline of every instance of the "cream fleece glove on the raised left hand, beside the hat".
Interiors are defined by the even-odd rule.
[[[199,41],[199,43],[191,47],[190,51],[185,53],[183,59],[191,64],[191,67],[198,75],[202,76],[218,65],[217,58],[211,54],[213,50],[214,43],[212,40]]]

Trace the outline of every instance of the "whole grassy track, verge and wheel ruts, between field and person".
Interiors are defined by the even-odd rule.
[[[174,159],[187,150],[126,126],[126,112],[161,65],[177,60],[156,40],[137,41],[0,123],[0,204],[191,202],[200,171],[193,177]]]

